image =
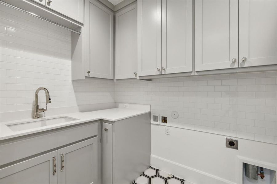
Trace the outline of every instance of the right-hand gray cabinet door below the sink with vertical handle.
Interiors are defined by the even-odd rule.
[[[58,158],[59,184],[97,184],[97,137],[59,149]]]

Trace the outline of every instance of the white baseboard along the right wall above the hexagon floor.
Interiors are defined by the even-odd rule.
[[[151,155],[151,166],[185,179],[186,184],[236,184],[235,182],[187,167],[185,165]],[[235,177],[235,173],[233,174]]]

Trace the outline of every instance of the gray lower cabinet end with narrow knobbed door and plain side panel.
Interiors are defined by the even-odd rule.
[[[102,183],[131,183],[150,166],[150,113],[102,121]]]

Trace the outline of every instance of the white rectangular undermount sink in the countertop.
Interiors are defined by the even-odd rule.
[[[6,124],[6,126],[9,127],[12,131],[16,132],[16,131],[28,130],[32,128],[44,127],[48,125],[65,123],[69,121],[75,121],[75,120],[78,120],[78,119],[68,117],[68,116],[62,116],[62,117],[40,118],[36,120],[31,120],[31,121],[22,121],[17,123]]]

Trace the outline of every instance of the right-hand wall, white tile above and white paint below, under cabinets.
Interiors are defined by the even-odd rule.
[[[151,104],[151,165],[196,184],[242,184],[242,163],[277,170],[277,72],[116,81],[116,102]],[[179,117],[170,114],[177,111]],[[225,138],[239,149],[225,147]],[[265,167],[266,168],[266,167]]]

